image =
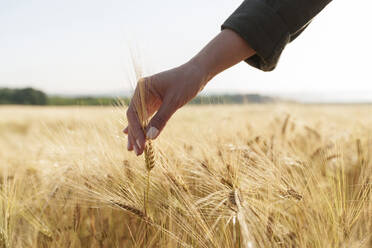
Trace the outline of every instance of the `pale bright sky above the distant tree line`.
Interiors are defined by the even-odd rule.
[[[0,87],[50,94],[127,92],[129,50],[146,75],[181,65],[242,0],[0,0]],[[284,50],[273,72],[242,62],[204,93],[372,101],[372,2],[336,0]]]

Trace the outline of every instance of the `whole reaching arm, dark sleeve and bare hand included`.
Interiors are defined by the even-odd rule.
[[[145,78],[149,116],[145,130],[155,139],[174,112],[194,98],[215,75],[245,60],[271,71],[285,46],[294,40],[331,0],[245,0],[222,25],[223,31],[189,62]],[[136,97],[136,96],[134,96]],[[135,99],[134,99],[135,100]],[[143,152],[145,134],[133,106],[127,111],[128,150]]]

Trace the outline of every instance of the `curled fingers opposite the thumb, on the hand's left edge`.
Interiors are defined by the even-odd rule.
[[[133,146],[136,155],[139,156],[143,153],[146,140],[137,113],[131,106],[127,110],[127,119],[128,128],[126,128],[127,130],[124,130],[124,132],[128,132],[128,141],[130,142],[130,145]]]

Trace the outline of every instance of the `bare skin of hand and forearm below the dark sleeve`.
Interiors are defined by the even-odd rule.
[[[128,127],[124,129],[128,135],[128,150],[141,155],[146,138],[156,139],[171,116],[192,100],[214,76],[254,54],[243,38],[224,29],[185,64],[140,79],[145,80],[149,92],[145,100],[148,116],[155,115],[146,130],[142,130],[134,107],[138,94],[134,94],[127,110]],[[138,91],[136,88],[135,92]]]

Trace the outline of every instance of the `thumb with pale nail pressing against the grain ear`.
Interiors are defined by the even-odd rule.
[[[150,123],[147,125],[146,138],[156,139],[174,112],[176,112],[176,109],[173,107],[173,104],[164,101],[154,117],[152,117]]]

